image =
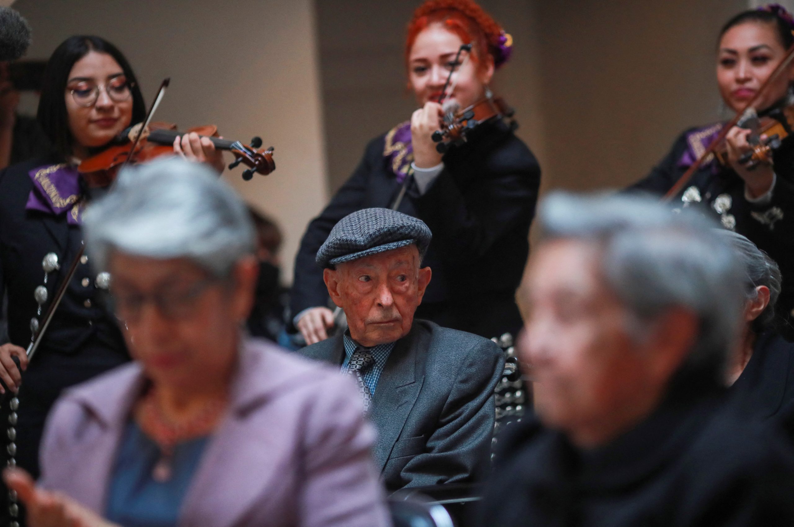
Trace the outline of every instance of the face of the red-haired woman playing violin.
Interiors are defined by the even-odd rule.
[[[455,73],[444,100],[457,102],[465,108],[483,97],[485,85],[493,75],[493,60],[490,55],[486,56],[483,60],[488,60],[488,63],[478,68],[474,60],[464,61],[467,52],[462,52],[460,63],[455,63],[461,44],[461,37],[439,23],[428,25],[416,36],[408,56],[408,80],[419,106],[438,100],[453,67]],[[454,90],[450,94],[453,84]]]

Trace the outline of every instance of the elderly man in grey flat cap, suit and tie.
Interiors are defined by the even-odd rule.
[[[470,482],[489,468],[503,355],[491,340],[414,321],[430,283],[421,267],[430,237],[414,217],[364,209],[342,218],[317,253],[349,329],[303,354],[359,382],[388,490]]]

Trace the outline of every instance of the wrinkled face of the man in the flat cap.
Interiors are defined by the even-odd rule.
[[[430,275],[430,267],[419,268],[411,244],[326,269],[324,279],[333,302],[345,310],[350,336],[369,347],[407,335]]]

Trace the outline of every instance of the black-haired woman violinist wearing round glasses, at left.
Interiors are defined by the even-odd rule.
[[[25,346],[79,251],[87,201],[103,191],[88,187],[76,165],[140,122],[145,112],[141,89],[121,52],[100,37],[70,37],[48,61],[37,113],[57,155],[0,172],[0,296],[4,290],[8,294],[10,337],[0,346],[0,379],[7,387],[0,391],[21,387],[14,412],[18,421],[10,423],[16,429],[14,458],[34,477],[44,418],[60,392],[129,360],[116,319],[100,302],[109,277],[94,274],[87,256],[79,260],[30,363]],[[222,168],[221,152],[198,135],[178,137],[174,151]],[[6,429],[7,417],[0,419]]]

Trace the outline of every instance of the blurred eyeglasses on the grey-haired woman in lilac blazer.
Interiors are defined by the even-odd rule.
[[[152,294],[114,294],[116,317],[125,323],[137,322],[141,318],[141,311],[147,302],[152,302],[157,306],[157,310],[165,318],[175,320],[188,317],[195,310],[195,299],[207,287],[218,282],[219,279],[211,277],[199,280],[184,290],[165,290]]]

